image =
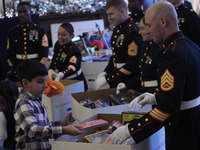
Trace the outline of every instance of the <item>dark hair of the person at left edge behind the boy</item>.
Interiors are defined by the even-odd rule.
[[[15,102],[19,96],[17,85],[13,81],[3,80],[0,81],[0,89],[1,101],[5,104],[4,107],[8,110],[13,110]]]

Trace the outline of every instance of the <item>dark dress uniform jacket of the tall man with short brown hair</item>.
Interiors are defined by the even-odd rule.
[[[114,28],[111,46],[113,55],[104,70],[105,78],[110,87],[117,87],[120,82],[139,74],[138,62],[144,43],[131,18]]]

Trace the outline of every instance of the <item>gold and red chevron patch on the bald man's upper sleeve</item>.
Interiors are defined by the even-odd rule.
[[[165,73],[161,76],[160,88],[163,91],[169,91],[174,88],[174,76],[166,69]]]

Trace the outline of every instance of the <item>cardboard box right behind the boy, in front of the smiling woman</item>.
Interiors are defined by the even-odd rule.
[[[47,97],[42,95],[42,102],[47,109],[49,121],[60,121],[71,110],[71,94],[84,91],[84,83],[79,80],[60,80],[64,85],[62,94]]]

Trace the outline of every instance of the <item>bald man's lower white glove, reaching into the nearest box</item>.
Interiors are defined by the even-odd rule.
[[[128,124],[117,128],[111,136],[112,144],[122,144],[125,140],[131,138],[128,130]]]

